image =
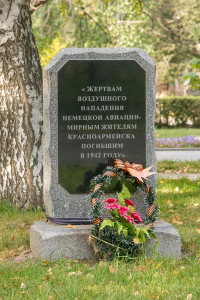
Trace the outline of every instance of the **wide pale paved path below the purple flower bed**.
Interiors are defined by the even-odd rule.
[[[200,148],[194,148],[194,149],[177,149],[177,148],[171,148],[171,149],[155,149],[156,159],[157,160],[198,160],[200,159]]]

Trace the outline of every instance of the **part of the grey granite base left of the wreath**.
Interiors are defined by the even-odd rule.
[[[68,258],[94,259],[94,250],[88,244],[88,233],[93,225],[52,225],[36,221],[30,226],[30,248],[38,259],[56,260],[61,255]]]

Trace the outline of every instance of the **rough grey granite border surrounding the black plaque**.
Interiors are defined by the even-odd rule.
[[[87,216],[90,203],[86,194],[71,194],[58,182],[58,122],[57,122],[57,72],[70,59],[122,59],[135,60],[145,71],[146,91],[146,166],[153,164],[152,171],[156,171],[155,160],[155,63],[139,48],[65,48],[47,63],[43,69],[43,123],[44,123],[44,203],[46,213],[52,217],[78,217]],[[124,101],[125,102],[125,101]],[[79,150],[78,150],[79,151]],[[66,153],[67,155],[67,153]],[[131,161],[134,161],[132,156]],[[70,171],[64,178],[70,177]],[[76,176],[77,180],[79,177]],[[156,175],[149,177],[150,182],[156,185]],[[109,194],[110,196],[111,194]],[[108,194],[106,195],[108,196]],[[146,213],[144,205],[145,194],[136,191],[131,199],[136,204],[139,213]]]

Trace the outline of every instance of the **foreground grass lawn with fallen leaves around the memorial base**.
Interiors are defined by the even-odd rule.
[[[158,179],[157,186],[160,218],[171,222],[181,235],[181,259],[84,263],[60,258],[16,264],[10,259],[29,247],[29,226],[44,219],[44,213],[1,203],[0,299],[199,300],[200,182]]]

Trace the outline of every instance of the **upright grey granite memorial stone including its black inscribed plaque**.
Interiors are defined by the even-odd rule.
[[[43,149],[48,216],[86,218],[89,181],[114,158],[153,164],[156,170],[154,77],[153,60],[139,48],[66,48],[47,63]],[[149,179],[156,184],[155,175]],[[145,214],[141,192],[132,193],[132,199]]]

